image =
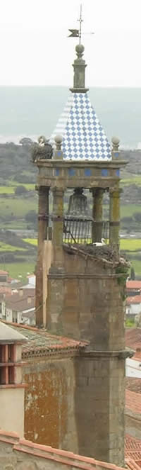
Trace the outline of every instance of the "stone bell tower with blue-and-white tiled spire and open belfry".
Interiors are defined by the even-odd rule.
[[[37,325],[57,335],[87,341],[87,347],[74,359],[77,442],[75,449],[68,449],[122,466],[127,266],[119,254],[119,181],[125,162],[120,160],[119,140],[112,139],[111,149],[90,103],[85,88],[84,47],[79,44],[75,49],[78,57],[73,64],[73,88],[50,139],[53,158],[45,158],[45,147],[44,158],[40,147],[36,153]],[[71,197],[65,213],[67,189]],[[109,194],[107,221],[103,218],[105,192]],[[49,194],[53,201],[50,212]],[[86,194],[90,194],[89,205]],[[107,242],[102,245],[105,235]]]

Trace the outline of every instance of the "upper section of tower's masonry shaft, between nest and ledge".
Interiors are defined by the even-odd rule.
[[[64,252],[64,276],[50,276],[47,328],[93,349],[124,347],[123,286],[116,269],[87,255]]]

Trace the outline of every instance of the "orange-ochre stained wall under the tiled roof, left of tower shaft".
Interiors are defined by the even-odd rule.
[[[29,359],[23,367],[25,438],[78,451],[73,406],[73,359]]]

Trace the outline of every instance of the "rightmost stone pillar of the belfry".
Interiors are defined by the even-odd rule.
[[[120,189],[119,185],[115,189],[110,189],[110,226],[109,243],[118,248],[120,229]]]

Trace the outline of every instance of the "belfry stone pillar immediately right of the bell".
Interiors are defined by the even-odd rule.
[[[102,199],[103,199],[104,190],[103,189],[94,189],[92,191],[93,203],[92,203],[92,218],[94,223],[92,223],[92,242],[101,242],[102,241]]]

